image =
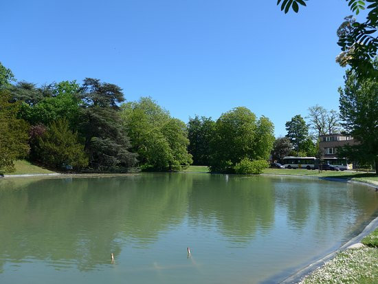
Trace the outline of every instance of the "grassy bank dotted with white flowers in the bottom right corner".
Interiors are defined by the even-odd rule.
[[[378,229],[362,243],[366,246],[340,252],[300,283],[378,283]]]

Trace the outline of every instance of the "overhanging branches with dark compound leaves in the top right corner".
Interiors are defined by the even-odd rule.
[[[278,0],[277,5],[281,2],[281,10],[285,13],[290,8],[294,12],[298,12],[299,5],[306,6],[306,0]],[[346,17],[346,21],[342,23],[337,36],[337,42],[342,49],[342,53],[337,56],[336,61],[340,65],[351,65],[355,72],[355,76],[363,78],[378,78],[378,70],[374,67],[372,59],[377,55],[378,39],[378,1],[377,0],[346,0],[348,6],[355,14],[359,14],[360,10],[368,9],[369,12],[364,23],[359,23],[353,17]],[[366,3],[370,3],[366,7]]]

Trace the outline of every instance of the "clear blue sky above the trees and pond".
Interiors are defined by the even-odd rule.
[[[3,1],[0,61],[37,85],[99,78],[184,122],[244,106],[285,135],[313,105],[338,109],[336,30],[352,13],[343,0],[310,0],[298,14],[276,2]]]

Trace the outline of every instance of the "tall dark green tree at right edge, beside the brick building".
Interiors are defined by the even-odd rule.
[[[375,163],[378,175],[377,80],[359,78],[353,70],[347,70],[344,79],[344,89],[339,88],[342,124],[358,144],[344,146],[337,153],[354,161]]]

